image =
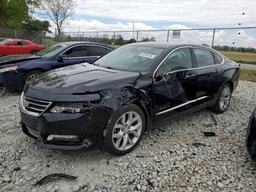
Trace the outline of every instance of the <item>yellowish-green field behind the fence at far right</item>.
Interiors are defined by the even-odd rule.
[[[220,51],[227,58],[245,64],[256,65],[256,53],[236,52],[236,51]]]

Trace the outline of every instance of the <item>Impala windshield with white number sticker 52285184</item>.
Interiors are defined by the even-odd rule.
[[[104,68],[141,72],[148,69],[162,52],[161,48],[122,46],[93,64]]]

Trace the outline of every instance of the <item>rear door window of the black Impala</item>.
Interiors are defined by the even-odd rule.
[[[194,48],[198,67],[214,65],[212,52],[206,49]]]

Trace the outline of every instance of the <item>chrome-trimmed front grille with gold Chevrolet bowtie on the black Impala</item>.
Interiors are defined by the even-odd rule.
[[[23,105],[24,112],[31,116],[40,116],[52,104],[52,102],[36,100],[27,96],[24,96],[24,101],[26,102],[26,106]]]

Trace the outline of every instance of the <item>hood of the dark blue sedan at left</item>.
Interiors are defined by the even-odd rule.
[[[32,54],[3,56],[3,57],[0,57],[0,66],[33,60],[33,59],[39,59],[39,58],[42,58],[42,57],[32,55]]]

